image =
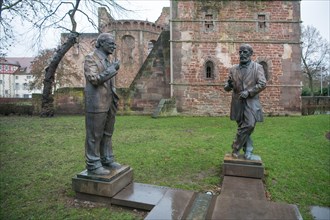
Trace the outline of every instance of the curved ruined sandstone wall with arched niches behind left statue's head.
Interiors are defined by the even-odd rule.
[[[148,21],[113,20],[105,9],[99,10],[99,17],[102,32],[116,39],[114,57],[121,61],[116,86],[128,88],[149,55],[150,42],[155,43],[164,28]]]

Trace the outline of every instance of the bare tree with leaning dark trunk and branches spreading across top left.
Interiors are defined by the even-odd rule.
[[[0,31],[4,33],[0,39],[1,48],[9,47],[14,39],[11,22],[15,17],[30,22],[33,28],[38,30],[35,37],[36,42],[40,42],[43,33],[50,28],[61,28],[70,33],[66,41],[55,51],[50,63],[45,68],[42,117],[54,115],[52,88],[55,72],[64,55],[77,43],[80,35],[77,31],[76,15],[83,16],[98,30],[97,22],[92,17],[93,15],[96,17],[98,7],[105,7],[109,12],[127,11],[115,0],[0,0]]]

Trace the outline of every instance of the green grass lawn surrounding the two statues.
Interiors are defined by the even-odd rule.
[[[330,206],[328,115],[267,117],[253,133],[276,202]],[[139,212],[74,200],[71,178],[84,169],[84,117],[0,117],[0,219],[141,219]],[[217,191],[235,136],[227,117],[152,119],[118,116],[117,161],[134,181],[200,192]]]

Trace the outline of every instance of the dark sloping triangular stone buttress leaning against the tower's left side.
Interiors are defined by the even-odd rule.
[[[119,114],[151,114],[170,97],[169,31],[163,31],[129,88],[119,88]]]

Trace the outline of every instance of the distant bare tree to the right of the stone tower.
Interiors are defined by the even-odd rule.
[[[311,95],[314,96],[314,80],[329,70],[330,46],[313,26],[302,27],[301,41],[302,71],[308,78]]]

